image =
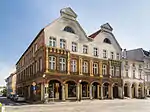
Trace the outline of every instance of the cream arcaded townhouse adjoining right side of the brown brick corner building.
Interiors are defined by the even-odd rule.
[[[124,97],[144,98],[146,95],[146,83],[144,74],[144,61],[135,58],[130,51],[123,51],[122,78]]]

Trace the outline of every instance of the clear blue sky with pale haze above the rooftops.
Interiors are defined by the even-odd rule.
[[[15,71],[15,64],[38,32],[71,7],[87,35],[104,23],[123,49],[150,50],[149,0],[1,0],[0,85]]]

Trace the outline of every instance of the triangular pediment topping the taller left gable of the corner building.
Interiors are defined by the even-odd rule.
[[[61,14],[61,16],[67,15],[67,16],[71,16],[73,18],[77,18],[77,14],[70,7],[61,9],[60,14]]]

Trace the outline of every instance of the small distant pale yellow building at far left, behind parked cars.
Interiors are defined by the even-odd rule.
[[[6,88],[7,95],[16,94],[16,73],[11,73],[8,78],[6,78]]]

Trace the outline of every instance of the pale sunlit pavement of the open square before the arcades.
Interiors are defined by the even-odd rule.
[[[84,100],[5,108],[7,112],[150,112],[150,99]]]

